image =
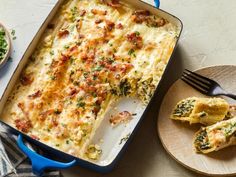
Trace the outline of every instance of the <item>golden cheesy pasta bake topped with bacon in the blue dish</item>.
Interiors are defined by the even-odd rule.
[[[91,138],[109,105],[121,97],[149,102],[178,34],[167,19],[122,1],[67,1],[1,118],[53,148],[95,160],[101,150]]]

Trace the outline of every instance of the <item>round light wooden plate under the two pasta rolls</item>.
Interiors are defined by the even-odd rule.
[[[236,66],[208,67],[198,70],[197,73],[216,80],[227,91],[236,93]],[[198,173],[211,176],[235,175],[236,146],[207,155],[197,154],[193,150],[192,142],[200,125],[189,125],[169,118],[177,102],[191,96],[206,97],[182,80],[177,80],[165,95],[157,121],[158,134],[164,148],[177,162]],[[225,99],[236,104],[235,100]]]

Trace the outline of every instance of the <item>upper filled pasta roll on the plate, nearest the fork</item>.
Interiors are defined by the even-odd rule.
[[[229,104],[222,98],[190,97],[175,106],[171,119],[212,125],[227,117]]]

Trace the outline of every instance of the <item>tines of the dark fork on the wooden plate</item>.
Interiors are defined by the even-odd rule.
[[[209,91],[212,85],[211,79],[189,71],[188,69],[184,70],[181,79],[199,92],[204,94]]]

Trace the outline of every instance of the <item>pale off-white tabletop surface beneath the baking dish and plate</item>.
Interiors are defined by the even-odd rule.
[[[152,3],[152,0],[146,0]],[[12,61],[0,70],[0,95],[30,41],[57,0],[0,0],[0,22],[16,30]],[[65,177],[184,177],[201,176],[191,172],[163,149],[156,133],[157,107],[168,86],[183,68],[198,69],[220,64],[236,64],[235,0],[162,0],[161,9],[179,17],[184,31],[160,96],[139,127],[117,166],[111,173],[98,174],[74,167]],[[180,139],[181,140],[181,139]]]

